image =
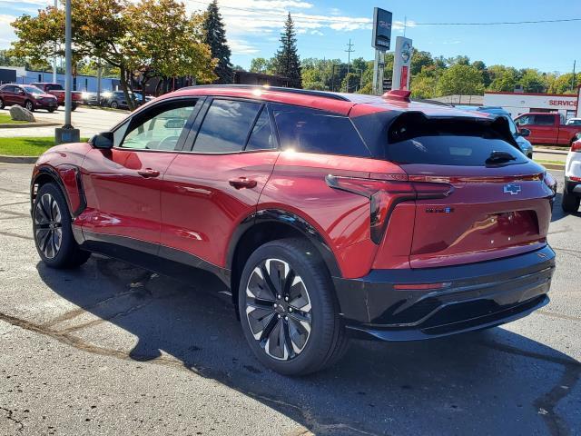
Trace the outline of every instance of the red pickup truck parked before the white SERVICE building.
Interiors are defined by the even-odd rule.
[[[571,145],[576,134],[581,133],[579,125],[565,125],[563,115],[557,113],[531,112],[518,115],[515,124],[522,131],[530,131],[527,139],[532,144]]]

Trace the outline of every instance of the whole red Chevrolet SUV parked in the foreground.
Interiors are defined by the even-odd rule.
[[[247,85],[166,94],[32,176],[43,262],[215,273],[251,350],[315,372],[350,337],[412,341],[547,304],[556,183],[507,120]]]

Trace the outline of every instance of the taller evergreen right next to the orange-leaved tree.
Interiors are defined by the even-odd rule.
[[[216,84],[231,84],[234,74],[230,63],[230,47],[226,41],[226,31],[222,23],[222,15],[218,9],[218,0],[208,5],[203,21],[204,43],[210,46],[212,57],[218,59],[214,73],[218,75]]]

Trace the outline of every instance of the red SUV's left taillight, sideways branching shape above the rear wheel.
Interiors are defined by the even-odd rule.
[[[389,216],[398,203],[445,198],[453,191],[448,183],[409,182],[406,174],[381,174],[381,179],[329,174],[325,181],[331,188],[369,198],[369,224],[374,243],[381,243]]]

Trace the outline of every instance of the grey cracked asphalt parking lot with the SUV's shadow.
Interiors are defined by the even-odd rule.
[[[293,379],[251,355],[209,277],[97,256],[45,268],[31,170],[0,164],[2,435],[581,434],[581,213],[556,204],[543,310],[448,339],[354,342],[337,366]]]

